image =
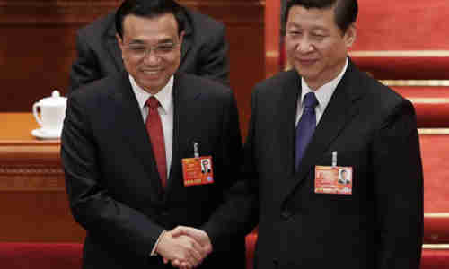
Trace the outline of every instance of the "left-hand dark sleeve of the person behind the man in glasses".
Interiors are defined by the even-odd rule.
[[[87,37],[80,31],[76,35],[76,58],[70,70],[68,92],[101,78],[97,57],[89,46]]]

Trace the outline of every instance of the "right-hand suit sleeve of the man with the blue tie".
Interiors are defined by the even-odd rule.
[[[419,268],[423,174],[414,108],[403,101],[373,144],[375,268]]]

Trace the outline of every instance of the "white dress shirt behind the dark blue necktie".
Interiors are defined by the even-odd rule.
[[[330,98],[332,97],[332,94],[334,93],[335,89],[337,88],[337,85],[339,85],[339,82],[341,81],[341,78],[343,77],[343,74],[345,74],[346,70],[348,69],[348,58],[346,59],[346,64],[339,73],[337,77],[335,77],[330,82],[327,82],[326,84],[322,85],[319,89],[316,91],[313,91],[307,83],[304,81],[304,78],[301,78],[301,99],[298,99],[298,104],[296,106],[296,122],[295,127],[297,126],[299,119],[301,116],[303,116],[304,106],[304,96],[305,94],[313,91],[315,92],[316,99],[318,100],[318,105],[315,107],[315,115],[316,115],[316,125],[320,122],[321,116],[324,113],[324,110],[327,108]]]

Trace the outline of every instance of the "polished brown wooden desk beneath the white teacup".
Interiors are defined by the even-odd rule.
[[[0,113],[0,241],[80,242],[66,196],[59,140],[31,135],[31,113]]]

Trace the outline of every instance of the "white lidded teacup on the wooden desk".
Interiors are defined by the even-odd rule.
[[[45,134],[60,135],[66,117],[66,97],[53,91],[51,97],[43,98],[32,105],[32,114]],[[38,113],[40,110],[40,115]]]

